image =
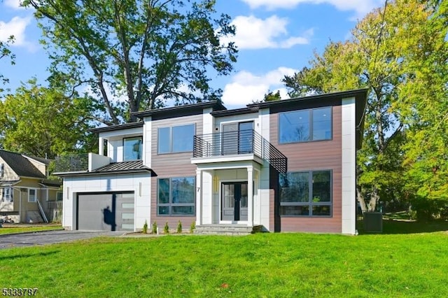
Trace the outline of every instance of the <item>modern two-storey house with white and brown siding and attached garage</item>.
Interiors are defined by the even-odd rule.
[[[260,227],[356,232],[367,90],[227,110],[218,101],[102,127],[99,155],[57,159],[67,229]]]

